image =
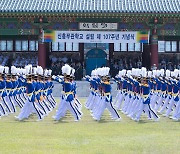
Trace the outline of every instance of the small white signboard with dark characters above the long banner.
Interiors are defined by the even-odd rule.
[[[117,23],[79,23],[79,29],[83,30],[116,30]]]

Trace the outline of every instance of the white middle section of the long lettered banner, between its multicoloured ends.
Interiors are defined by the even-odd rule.
[[[139,43],[138,32],[55,31],[55,42],[73,43]]]

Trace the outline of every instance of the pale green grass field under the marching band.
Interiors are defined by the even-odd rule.
[[[180,153],[180,122],[161,116],[159,122],[142,118],[137,123],[122,113],[122,121],[115,122],[108,111],[96,122],[85,108],[83,113],[79,122],[70,114],[60,122],[53,121],[55,110],[40,122],[36,116],[23,122],[15,120],[17,114],[3,117],[0,154]]]

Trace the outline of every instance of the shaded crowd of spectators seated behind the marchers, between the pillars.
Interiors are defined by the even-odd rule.
[[[61,67],[69,64],[76,70],[75,79],[81,80],[83,75],[86,74],[86,64],[80,60],[79,53],[51,53],[49,55],[48,68],[52,70],[54,75],[61,74]],[[17,66],[24,67],[28,64],[36,66],[38,64],[37,53],[16,53],[16,54],[1,54],[0,65],[3,66]],[[139,54],[132,55],[115,55],[107,66],[110,67],[110,75],[114,77],[119,70],[132,68],[142,68],[142,56]],[[180,62],[178,56],[175,54],[159,55],[159,66],[157,69],[180,69]]]

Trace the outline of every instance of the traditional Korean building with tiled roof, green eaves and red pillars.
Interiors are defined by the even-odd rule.
[[[42,42],[44,30],[149,31],[149,43]],[[0,54],[33,55],[49,66],[52,55],[74,55],[87,72],[118,57],[158,66],[180,53],[179,0],[1,0]],[[23,56],[22,56],[23,59]],[[21,60],[21,59],[20,59]]]

